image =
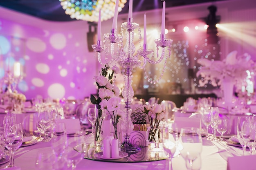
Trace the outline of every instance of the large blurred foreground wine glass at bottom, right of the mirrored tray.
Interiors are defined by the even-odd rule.
[[[199,128],[181,128],[180,144],[183,149],[180,150],[182,157],[186,161],[186,167],[191,170],[200,170],[202,135]]]

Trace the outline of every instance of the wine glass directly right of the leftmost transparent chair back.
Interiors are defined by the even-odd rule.
[[[38,123],[40,124],[44,132],[44,138],[42,140],[43,142],[49,141],[46,130],[51,125],[51,121],[52,116],[50,115],[49,111],[41,109],[38,113]]]

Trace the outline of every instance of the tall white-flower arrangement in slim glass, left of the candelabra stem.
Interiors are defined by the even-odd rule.
[[[90,100],[92,104],[95,104],[97,107],[97,119],[95,122],[95,141],[98,141],[101,134],[102,118],[103,112],[102,109],[108,109],[109,113],[111,112],[111,117],[115,120],[115,125],[119,122],[117,99],[120,91],[117,86],[115,86],[113,79],[114,73],[119,73],[120,70],[117,66],[112,68],[112,72],[109,71],[109,66],[105,65],[104,68],[101,68],[101,74],[95,76],[96,84],[98,86],[97,98],[94,95],[91,95]],[[117,98],[116,98],[117,97]],[[111,106],[112,104],[112,106]]]

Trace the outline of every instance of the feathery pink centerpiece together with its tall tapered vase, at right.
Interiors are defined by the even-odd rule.
[[[232,51],[222,61],[199,59],[202,68],[196,73],[203,79],[199,80],[204,86],[211,80],[212,86],[221,86],[224,94],[225,105],[230,110],[232,107],[233,91],[235,84],[241,84],[247,78],[247,71],[255,71],[256,65],[247,53],[237,56],[237,51]]]

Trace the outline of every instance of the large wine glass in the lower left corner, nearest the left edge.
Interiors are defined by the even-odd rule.
[[[6,117],[9,119],[9,117]],[[14,153],[20,148],[23,141],[23,132],[21,124],[4,125],[4,143],[5,147],[10,151],[10,163],[6,168],[12,168],[14,166]]]

